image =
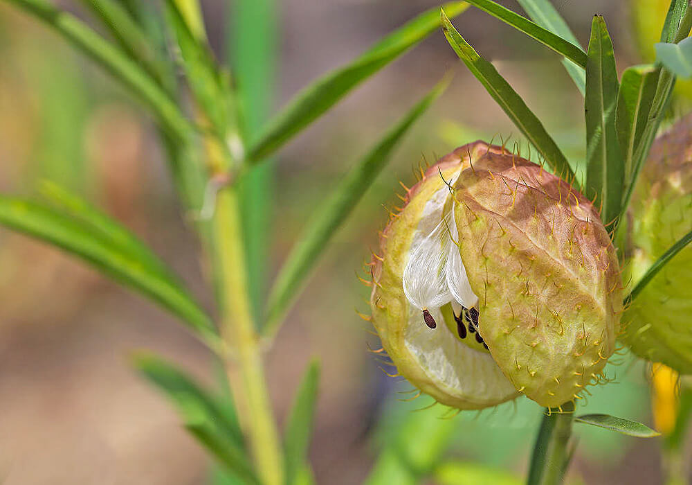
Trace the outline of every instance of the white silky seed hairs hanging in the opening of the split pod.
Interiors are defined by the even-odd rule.
[[[457,176],[458,174],[454,179]],[[468,283],[464,263],[459,255],[455,204],[452,204],[451,210],[444,216],[442,214],[449,197],[447,187],[441,188],[432,197],[430,206],[426,207],[426,221],[421,220],[419,231],[430,227],[430,220],[439,222],[427,233],[417,234],[403,271],[403,292],[410,304],[418,310],[440,308],[452,299],[471,308],[478,301]]]

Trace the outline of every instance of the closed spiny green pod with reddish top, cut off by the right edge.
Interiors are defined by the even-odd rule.
[[[692,116],[653,143],[628,212],[624,279],[636,283],[692,229]],[[623,341],[642,358],[692,373],[692,247],[654,276],[625,312]]]

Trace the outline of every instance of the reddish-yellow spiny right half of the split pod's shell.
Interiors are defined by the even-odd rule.
[[[540,405],[578,398],[603,378],[622,312],[617,256],[596,209],[504,150],[473,161],[455,200],[479,331],[495,362]]]

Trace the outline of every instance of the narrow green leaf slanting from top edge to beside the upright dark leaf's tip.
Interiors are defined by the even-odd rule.
[[[506,24],[520,30],[529,37],[533,37],[541,44],[552,48],[556,53],[563,55],[564,58],[574,62],[582,69],[586,69],[586,54],[583,49],[579,48],[572,42],[563,39],[560,35],[552,33],[550,30],[534,24],[529,19],[522,17],[516,12],[512,12],[509,8],[495,3],[492,0],[466,0],[471,5],[480,8],[484,12],[489,13]]]

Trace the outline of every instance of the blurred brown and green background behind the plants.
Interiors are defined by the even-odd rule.
[[[91,21],[78,2],[57,3]],[[219,59],[232,57],[233,8],[222,0],[201,3]],[[251,123],[436,5],[428,0],[273,3],[275,45],[262,60],[268,67],[266,94],[256,100],[257,112],[249,117],[257,119]],[[500,3],[520,11],[516,3]],[[633,1],[554,4],[583,45],[592,15],[605,15],[619,67],[651,55],[659,25],[651,27],[653,37],[650,32],[642,37]],[[556,55],[477,10],[469,9],[455,25],[495,62],[565,153],[583,157],[583,100]],[[236,46],[235,52],[242,48],[253,46]],[[210,307],[199,243],[179,211],[165,154],[143,109],[62,38],[4,2],[0,59],[0,190],[32,195],[41,180],[51,179],[88,197],[152,245]],[[376,338],[354,312],[367,312],[368,296],[354,273],[362,272],[376,247],[376,231],[387,220],[383,206],[397,204],[399,181],[412,184],[419,163],[469,141],[511,137],[511,146],[516,139],[516,129],[441,33],[385,68],[275,157],[266,196],[279,209],[266,227],[264,258],[271,276],[311,209],[349,163],[449,71],[455,73],[450,88],[415,125],[338,233],[268,354],[280,421],[307,362],[313,356],[322,362],[311,447],[320,484],[360,483],[379,450],[407,433],[413,441],[426,433],[441,436],[450,457],[519,476],[526,470],[542,412],[535,403],[519,399],[452,419],[441,419],[443,411],[435,407],[413,412],[430,399],[399,401],[412,396],[399,394],[410,385],[379,369],[367,352],[368,344],[378,347]],[[172,317],[57,250],[0,231],[0,482],[208,483],[208,459],[164,398],[129,367],[129,353],[142,348],[180,362],[203,382],[213,380],[207,351]],[[616,383],[593,389],[585,409],[651,424],[646,367],[622,355],[610,364],[608,376]],[[575,434],[579,448],[570,482],[660,483],[655,440],[586,427],[576,427]]]

